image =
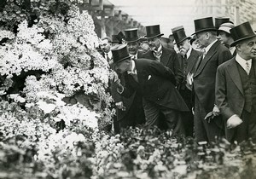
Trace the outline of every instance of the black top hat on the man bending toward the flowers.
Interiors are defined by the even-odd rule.
[[[125,59],[131,57],[131,55],[129,55],[126,44],[119,44],[114,46],[113,49],[111,49],[111,52],[113,55],[113,63],[125,61]]]

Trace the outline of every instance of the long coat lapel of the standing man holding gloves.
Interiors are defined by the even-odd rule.
[[[205,56],[205,58],[201,60],[199,66],[197,67],[197,70],[196,70],[196,72],[195,72],[195,76],[194,76],[194,77],[198,76],[198,75],[201,73],[201,71],[202,71],[202,70],[204,69],[204,67],[207,65],[207,62],[210,61],[211,58],[212,58],[212,56],[217,53],[217,50],[216,50],[216,49],[217,49],[217,47],[218,47],[219,44],[220,44],[220,42],[217,41],[217,42],[215,42],[215,43],[212,45],[212,47],[211,47],[211,48],[209,49],[209,51],[207,52],[207,55]]]

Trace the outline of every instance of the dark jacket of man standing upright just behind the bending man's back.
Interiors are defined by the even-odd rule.
[[[141,57],[144,59],[150,59],[155,61],[153,51],[151,50],[141,55]],[[181,82],[183,81],[183,72],[178,62],[176,51],[174,49],[166,49],[165,47],[162,47],[160,62],[162,62],[164,66],[169,67],[172,72],[174,72],[176,85],[179,86],[179,84],[181,84]]]

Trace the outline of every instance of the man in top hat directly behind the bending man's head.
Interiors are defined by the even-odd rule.
[[[127,43],[129,54],[132,59],[137,59],[142,52],[138,52],[139,39],[137,28],[126,29],[124,40]],[[123,74],[119,74],[120,83],[125,84],[125,79]],[[116,86],[115,86],[115,92]],[[136,126],[137,124],[145,123],[145,115],[143,111],[143,98],[136,91],[129,98],[119,96],[119,98],[114,98],[116,101],[115,105],[117,107],[117,124],[114,124],[115,130],[119,132],[119,129],[125,128],[127,126]],[[125,109],[125,110],[124,110]]]

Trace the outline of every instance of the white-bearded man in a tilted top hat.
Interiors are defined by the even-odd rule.
[[[180,85],[179,92],[190,110],[189,113],[185,113],[183,118],[184,128],[187,136],[193,136],[194,115],[192,113],[192,84],[187,83],[189,81],[187,80],[187,77],[195,73],[195,63],[201,56],[201,52],[192,49],[189,42],[190,37],[186,36],[183,26],[173,28],[172,34],[177,44],[177,49],[179,49],[177,57],[183,70],[183,81]]]

